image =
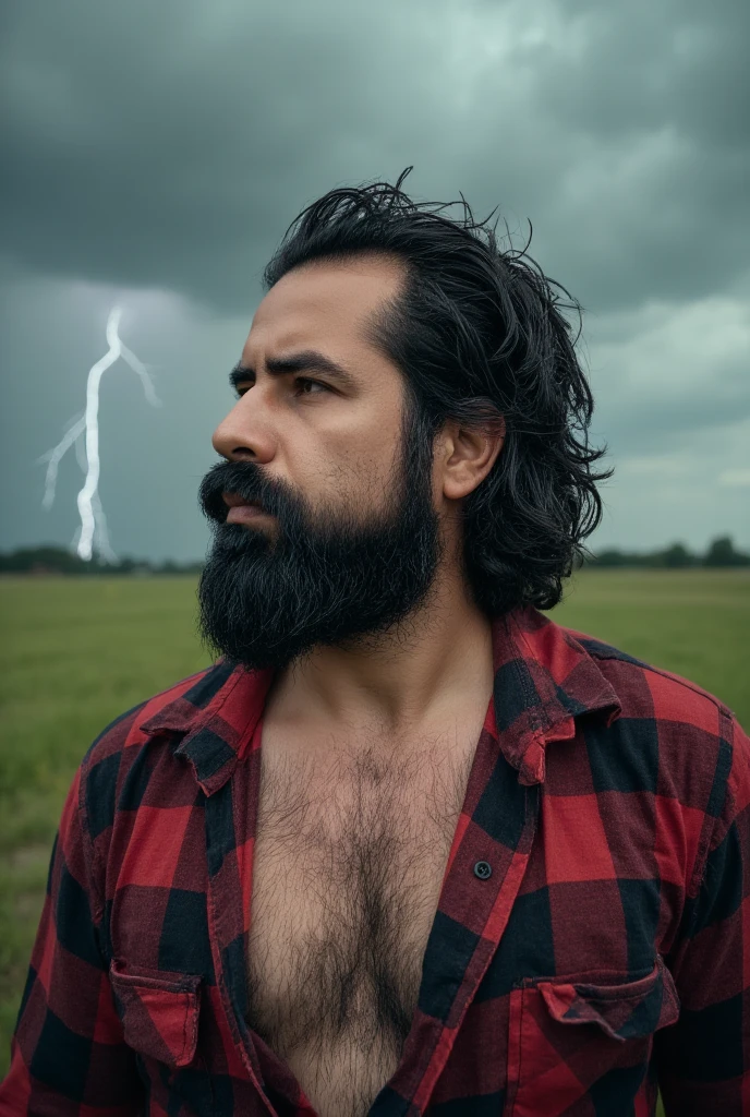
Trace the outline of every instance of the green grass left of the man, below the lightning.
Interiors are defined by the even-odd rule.
[[[0,1077],[75,770],[114,717],[210,662],[194,615],[193,577],[0,579]]]

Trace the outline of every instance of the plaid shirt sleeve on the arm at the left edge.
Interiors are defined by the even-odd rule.
[[[131,1117],[144,1087],[123,1039],[100,949],[78,771],[52,848],[47,895],[0,1083],[0,1117]]]

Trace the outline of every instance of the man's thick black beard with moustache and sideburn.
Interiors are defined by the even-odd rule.
[[[443,557],[432,506],[432,440],[405,426],[387,510],[363,522],[330,505],[315,518],[252,462],[220,462],[200,503],[214,542],[199,585],[199,626],[218,652],[249,669],[285,668],[317,645],[376,648],[404,634]],[[222,491],[260,500],[262,526],[227,524]],[[333,502],[331,502],[333,505]]]

